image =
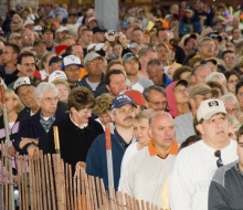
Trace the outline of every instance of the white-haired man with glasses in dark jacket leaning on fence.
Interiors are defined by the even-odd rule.
[[[35,90],[40,111],[23,122],[13,146],[15,150],[33,157],[39,149],[43,154],[54,154],[53,126],[65,118],[65,113],[57,108],[59,90],[52,83],[41,83]]]

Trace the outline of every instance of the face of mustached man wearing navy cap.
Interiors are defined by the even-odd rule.
[[[130,128],[133,126],[133,119],[135,117],[135,108],[130,104],[126,104],[120,108],[116,108],[115,113],[110,114],[112,120],[116,126],[123,128]]]

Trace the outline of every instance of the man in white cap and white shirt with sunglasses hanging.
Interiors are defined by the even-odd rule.
[[[229,137],[229,122],[220,99],[201,102],[194,125],[202,140],[183,148],[170,175],[170,207],[208,209],[210,181],[218,167],[237,159],[236,141]]]

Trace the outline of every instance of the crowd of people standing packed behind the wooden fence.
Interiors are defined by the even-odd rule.
[[[0,76],[14,175],[17,153],[55,153],[57,126],[73,175],[81,165],[108,189],[110,127],[115,190],[163,210],[242,209],[242,9],[155,1],[120,8],[118,30],[85,6],[10,10]],[[0,125],[4,143],[2,106]]]

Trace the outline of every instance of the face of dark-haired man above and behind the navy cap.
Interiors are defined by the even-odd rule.
[[[112,96],[117,96],[123,91],[126,91],[127,84],[123,74],[112,74],[109,80],[110,82],[108,85],[106,85],[106,88],[112,94]]]

